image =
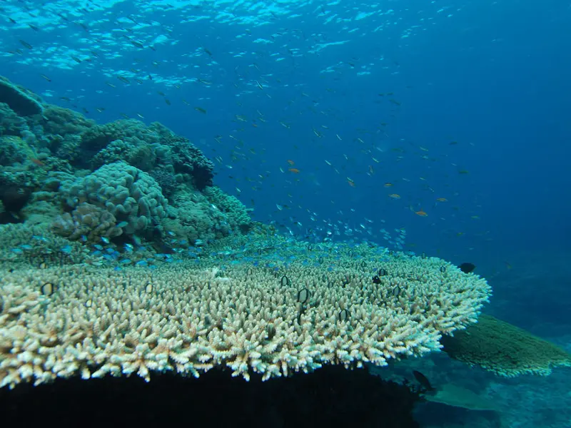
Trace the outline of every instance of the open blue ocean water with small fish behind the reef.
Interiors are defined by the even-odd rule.
[[[163,123],[255,220],[300,238],[393,245],[404,229],[405,250],[474,263],[487,312],[571,350],[570,1],[0,10],[14,83],[100,123]],[[506,426],[571,427],[569,369],[486,379]]]

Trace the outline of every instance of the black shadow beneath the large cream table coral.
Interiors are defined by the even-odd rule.
[[[324,367],[310,374],[261,382],[211,370],[199,379],[175,374],[139,378],[59,379],[0,391],[3,424],[31,427],[418,427],[408,387],[367,370]]]

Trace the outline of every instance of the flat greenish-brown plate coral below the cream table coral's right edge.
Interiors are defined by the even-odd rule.
[[[565,350],[490,315],[480,315],[477,324],[440,342],[455,360],[504,377],[547,375],[553,367],[571,366]]]

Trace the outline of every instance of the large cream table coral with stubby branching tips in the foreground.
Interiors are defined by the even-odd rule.
[[[75,373],[149,380],[229,367],[269,379],[386,365],[438,349],[441,333],[474,322],[490,294],[485,280],[438,259],[369,263],[388,271],[381,284],[350,258],[326,262],[332,271],[295,262],[277,272],[246,263],[1,272],[0,386]],[[41,295],[48,282],[54,294]]]

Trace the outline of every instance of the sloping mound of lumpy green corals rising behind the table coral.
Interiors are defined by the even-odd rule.
[[[212,179],[213,163],[160,123],[98,124],[0,78],[0,223],[167,251],[173,233],[206,242],[246,232],[246,208]]]

